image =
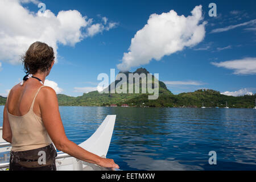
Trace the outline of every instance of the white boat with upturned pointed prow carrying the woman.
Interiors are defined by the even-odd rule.
[[[79,146],[93,154],[106,158],[115,125],[115,117],[116,115],[108,115],[95,133]],[[0,135],[2,136],[2,127],[0,127]],[[7,151],[11,151],[11,144],[5,143],[5,140],[0,140],[0,153]],[[57,152],[56,167],[57,171],[110,171],[109,168],[81,161],[64,152]],[[9,163],[0,163],[0,171],[6,171],[8,168]]]

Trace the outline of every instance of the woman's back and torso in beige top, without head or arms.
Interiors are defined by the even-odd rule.
[[[13,134],[12,151],[34,150],[52,143],[37,101],[43,86],[35,81],[30,78],[24,85],[14,86],[7,98],[7,114]]]

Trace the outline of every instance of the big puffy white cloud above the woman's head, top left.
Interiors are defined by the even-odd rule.
[[[93,23],[93,19],[82,16],[77,10],[60,11],[57,15],[50,10],[45,13],[31,12],[21,3],[38,3],[34,0],[0,1],[0,60],[19,63],[20,55],[31,43],[41,41],[52,46],[57,55],[58,44],[75,46],[81,40],[92,37],[110,24]],[[113,28],[113,27],[112,27]]]

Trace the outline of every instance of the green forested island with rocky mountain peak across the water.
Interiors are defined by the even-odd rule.
[[[130,72],[125,72],[128,75]],[[139,68],[133,73],[149,73],[144,68]],[[154,80],[154,76],[152,76]],[[141,80],[140,86],[141,86]],[[115,85],[119,81],[115,81]],[[113,83],[112,83],[113,84]],[[133,82],[135,84],[135,82]],[[127,82],[127,85],[129,83]],[[110,85],[109,88],[110,90]],[[200,89],[195,92],[173,94],[167,89],[164,82],[159,81],[159,97],[157,100],[148,100],[148,93],[99,93],[98,91],[84,93],[79,97],[57,94],[60,106],[130,106],[130,107],[226,107],[253,108],[256,94],[249,96],[226,96],[216,90]],[[5,105],[6,98],[0,96],[0,105]]]

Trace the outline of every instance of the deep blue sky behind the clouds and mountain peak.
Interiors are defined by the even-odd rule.
[[[24,3],[24,0],[12,1],[16,3],[17,7],[26,8],[30,14],[39,10],[37,6],[39,2],[36,0],[31,0],[30,3]],[[57,88],[58,93],[81,96],[82,91],[87,92],[97,86],[97,83],[100,82],[97,81],[97,76],[100,73],[110,75],[111,68],[115,68],[116,73],[118,73],[117,65],[122,63],[123,53],[129,52],[131,39],[147,24],[151,14],[161,15],[174,10],[177,16],[184,15],[184,17],[187,17],[199,5],[202,5],[201,10],[203,13],[203,19],[200,20],[200,24],[207,22],[204,25],[205,34],[202,40],[197,41],[195,45],[184,46],[181,50],[172,52],[170,55],[168,53],[166,55],[163,54],[158,61],[152,58],[148,64],[131,67],[129,70],[135,71],[137,68],[143,67],[151,73],[159,73],[159,80],[166,82],[168,89],[174,94],[193,92],[201,88],[214,89],[234,96],[237,94],[256,93],[255,1],[110,0],[40,2],[45,3],[46,9],[55,16],[60,11],[77,10],[82,17],[87,16],[86,22],[90,23],[89,26],[81,27],[78,30],[83,35],[79,37],[79,40],[76,40],[77,37],[75,36],[68,39],[68,34],[75,33],[67,33],[65,30],[56,30],[60,31],[59,34],[63,34],[65,38],[59,38],[60,36],[55,35],[57,38],[51,39],[56,42],[58,63],[55,64],[51,75],[47,79],[54,81],[54,84],[53,82],[51,84]],[[217,5],[216,17],[208,15],[210,10],[208,5],[211,2]],[[0,32],[1,29],[3,32],[3,35],[0,34],[0,42],[6,43],[3,40],[10,40],[11,42],[13,36],[17,38],[19,34],[25,37],[24,41],[36,39],[36,34],[32,37],[31,34],[33,33],[26,35],[24,31],[23,33],[16,31],[19,27],[15,27],[15,30],[9,28],[13,27],[11,23],[15,23],[15,18],[18,19],[18,16],[24,15],[24,13],[19,14],[19,9],[12,9],[13,5],[6,5],[5,8],[8,9],[9,7],[10,16],[6,16],[11,18],[10,20],[5,18],[7,19],[6,22],[8,21],[9,23],[1,22],[0,24]],[[36,15],[34,14],[34,16]],[[68,22],[69,18],[65,17],[64,20]],[[107,22],[104,22],[104,17],[108,19]],[[89,19],[92,19],[92,22]],[[31,17],[28,20],[33,22]],[[0,21],[4,21],[3,16]],[[78,22],[77,19],[71,18],[71,22],[68,24],[70,25],[73,22],[80,24],[83,21],[81,19],[81,22]],[[30,25],[33,26],[34,24],[31,23]],[[97,24],[101,27],[98,31],[92,29],[92,25]],[[73,27],[75,25],[72,24]],[[47,26],[51,26],[51,23],[47,24],[46,22],[43,28]],[[88,27],[95,31],[89,34]],[[21,24],[20,29],[23,30],[22,28],[24,27]],[[74,29],[73,31],[77,30]],[[47,41],[50,41],[48,38],[52,36],[50,34],[47,35]],[[164,34],[168,34],[168,32],[164,32]],[[170,29],[170,34],[175,34],[175,32]],[[18,63],[17,55],[15,55],[19,51],[12,51],[11,48],[13,46],[17,49],[23,47],[25,49],[26,46],[16,46],[14,40],[10,42],[7,42],[6,45],[2,43],[2,47],[0,45],[2,49],[2,52],[0,51],[2,54],[0,56],[0,76],[2,77],[0,95],[2,96],[6,96],[7,90],[11,89],[24,76],[22,64]],[[3,46],[9,47],[9,49],[3,50]],[[134,47],[136,48],[136,45]],[[154,49],[154,47],[150,46],[148,48]],[[135,61],[140,61],[139,59],[137,60],[138,56],[134,57]]]

